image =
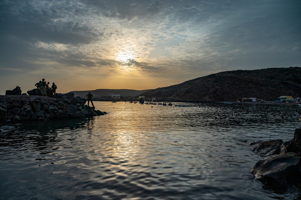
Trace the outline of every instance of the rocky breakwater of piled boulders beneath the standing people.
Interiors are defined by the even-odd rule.
[[[73,92],[42,96],[0,95],[0,122],[86,118],[106,112],[85,105],[86,99]]]

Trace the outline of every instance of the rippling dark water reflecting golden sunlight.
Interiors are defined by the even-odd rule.
[[[1,127],[0,199],[300,197],[254,180],[248,145],[292,139],[299,106],[94,104],[108,114]]]

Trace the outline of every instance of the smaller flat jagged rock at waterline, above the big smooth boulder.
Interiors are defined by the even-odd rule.
[[[268,140],[268,141],[257,141],[256,143],[250,143],[252,146],[251,150],[262,156],[277,155],[280,153],[282,140]]]

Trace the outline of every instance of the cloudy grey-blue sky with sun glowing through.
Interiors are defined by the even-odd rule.
[[[0,94],[153,89],[300,66],[299,0],[1,0]]]

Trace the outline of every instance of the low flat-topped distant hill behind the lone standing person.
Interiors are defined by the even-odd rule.
[[[88,92],[93,94],[93,98],[108,97],[110,94],[120,94],[121,97],[135,97],[141,93],[149,90],[128,90],[128,89],[97,89],[97,90],[86,90],[86,91],[72,91],[74,96],[85,97]]]

